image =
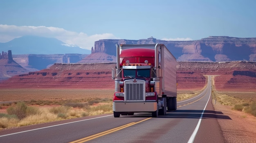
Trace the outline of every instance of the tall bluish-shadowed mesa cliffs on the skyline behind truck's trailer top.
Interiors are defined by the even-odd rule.
[[[153,37],[141,40],[99,40],[92,53],[116,56],[115,44],[165,44],[177,61],[254,61],[256,62],[256,38],[210,36],[192,41],[163,41]]]

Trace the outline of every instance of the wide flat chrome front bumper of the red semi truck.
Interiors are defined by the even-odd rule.
[[[115,112],[154,112],[157,102],[113,102]]]

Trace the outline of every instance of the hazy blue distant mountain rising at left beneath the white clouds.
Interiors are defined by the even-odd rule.
[[[56,38],[22,36],[6,43],[0,43],[0,51],[11,50],[13,55],[21,54],[90,54],[90,50],[66,44]]]

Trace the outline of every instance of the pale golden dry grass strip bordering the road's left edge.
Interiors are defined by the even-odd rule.
[[[16,106],[11,106],[13,110],[17,109],[20,102],[17,103]],[[108,100],[104,103],[99,103],[99,105],[90,106],[88,103],[84,104],[82,108],[73,108],[70,106],[55,106],[55,107],[29,107],[24,106],[27,109],[34,108],[36,112],[33,114],[27,114],[27,112],[15,112],[11,113],[13,116],[9,114],[0,114],[0,130],[4,128],[12,128],[12,127],[20,127],[26,125],[33,125],[38,123],[47,123],[51,121],[60,121],[64,119],[72,119],[78,117],[92,116],[98,114],[107,114],[112,112],[112,101]],[[8,108],[7,108],[8,109]],[[18,108],[19,109],[19,108]],[[19,110],[18,110],[19,111]],[[22,114],[22,118],[17,117]]]

